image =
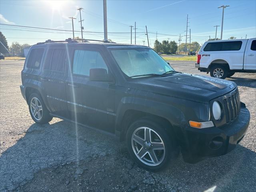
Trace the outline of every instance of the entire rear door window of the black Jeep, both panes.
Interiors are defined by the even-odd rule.
[[[65,49],[49,49],[44,62],[44,70],[64,72],[66,58],[67,55]]]

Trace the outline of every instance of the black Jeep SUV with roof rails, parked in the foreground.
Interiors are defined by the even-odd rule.
[[[236,84],[175,71],[146,46],[48,40],[32,46],[22,96],[36,123],[58,117],[126,141],[133,160],[164,168],[230,152],[250,113]]]

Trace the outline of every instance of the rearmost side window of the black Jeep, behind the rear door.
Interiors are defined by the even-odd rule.
[[[39,69],[44,49],[32,49],[29,57],[27,68]]]

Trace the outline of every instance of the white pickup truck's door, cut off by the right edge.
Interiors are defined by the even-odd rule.
[[[245,57],[245,70],[256,70],[256,40],[249,39],[248,46],[246,47]]]

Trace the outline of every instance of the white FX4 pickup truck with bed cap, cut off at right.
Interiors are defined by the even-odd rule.
[[[256,72],[256,38],[207,41],[197,55],[196,68],[224,79],[235,72]]]

